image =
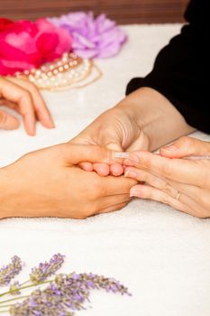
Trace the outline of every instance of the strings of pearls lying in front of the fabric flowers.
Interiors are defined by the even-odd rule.
[[[70,52],[64,53],[59,60],[42,65],[40,69],[16,72],[15,77],[29,79],[38,88],[56,90],[68,88],[86,79],[92,67],[91,60],[82,60]]]

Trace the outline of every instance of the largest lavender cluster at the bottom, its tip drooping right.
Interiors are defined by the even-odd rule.
[[[59,274],[46,289],[38,289],[25,301],[13,305],[10,314],[73,316],[74,311],[84,309],[83,303],[88,300],[91,289],[130,295],[123,284],[103,275]]]

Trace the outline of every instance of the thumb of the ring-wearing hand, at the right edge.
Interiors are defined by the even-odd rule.
[[[190,155],[210,155],[210,143],[184,136],[173,144],[160,148],[160,155],[169,158],[182,158]]]

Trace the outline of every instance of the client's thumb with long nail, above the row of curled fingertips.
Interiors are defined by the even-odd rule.
[[[64,144],[64,159],[71,164],[88,163],[123,163],[123,159],[114,158],[114,152],[96,144]]]

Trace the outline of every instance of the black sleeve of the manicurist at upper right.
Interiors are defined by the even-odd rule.
[[[158,90],[177,107],[187,123],[210,134],[209,1],[192,0],[181,33],[158,54],[145,78],[132,79],[126,94],[137,88]]]

